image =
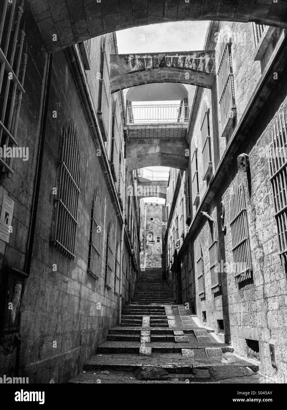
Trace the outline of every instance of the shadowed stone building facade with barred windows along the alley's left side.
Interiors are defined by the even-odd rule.
[[[0,239],[0,368],[25,374],[30,383],[59,383],[79,372],[118,323],[120,298],[122,305],[131,301],[139,269],[139,201],[126,190],[136,185],[137,171],[125,170],[122,92],[108,89],[115,34],[48,55],[28,2],[24,12],[20,1],[9,2],[7,12],[3,3],[0,47],[5,52],[9,44],[7,59],[15,6],[20,47],[25,30],[14,138],[29,148],[29,158],[15,158],[11,172],[7,161],[2,166],[1,207],[10,201],[14,211],[9,238]],[[5,68],[16,73],[15,61]],[[9,88],[5,71],[8,102],[13,84]],[[15,121],[16,110],[13,115]]]

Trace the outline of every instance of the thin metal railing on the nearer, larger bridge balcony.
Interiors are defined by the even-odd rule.
[[[128,105],[127,124],[175,123],[189,119],[188,104]]]

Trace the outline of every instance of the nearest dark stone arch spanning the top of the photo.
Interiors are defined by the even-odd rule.
[[[102,34],[168,21],[255,21],[287,27],[284,0],[66,0],[60,6],[55,0],[28,2],[49,52]]]

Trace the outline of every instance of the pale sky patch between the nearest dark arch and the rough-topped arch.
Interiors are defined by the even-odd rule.
[[[116,32],[119,54],[202,50],[208,21],[179,21]]]

